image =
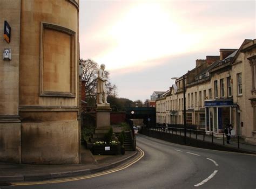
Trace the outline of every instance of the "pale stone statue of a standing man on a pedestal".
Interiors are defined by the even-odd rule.
[[[106,75],[105,75],[105,65],[100,65],[98,71],[98,83],[97,83],[97,104],[109,104],[106,101]]]

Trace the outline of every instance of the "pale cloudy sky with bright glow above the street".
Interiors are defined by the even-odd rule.
[[[80,58],[105,64],[118,97],[150,99],[196,66],[256,36],[255,1],[80,0]]]

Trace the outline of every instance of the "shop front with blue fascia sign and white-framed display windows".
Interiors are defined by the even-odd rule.
[[[233,100],[216,99],[206,100],[205,104],[205,130],[214,134],[223,134],[227,124],[232,124]]]

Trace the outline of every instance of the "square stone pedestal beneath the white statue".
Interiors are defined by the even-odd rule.
[[[96,108],[96,129],[91,138],[91,142],[103,140],[104,135],[110,129],[110,111],[109,104],[98,104]]]

